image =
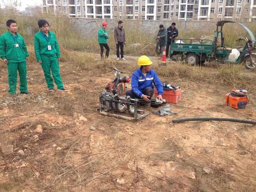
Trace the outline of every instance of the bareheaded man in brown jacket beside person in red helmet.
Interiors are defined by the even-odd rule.
[[[126,44],[126,38],[125,38],[125,29],[123,28],[123,22],[122,20],[118,21],[118,26],[115,27],[114,30],[114,38],[116,41],[116,60],[120,59],[119,55],[119,47],[121,49],[121,59],[125,60],[124,58],[124,44]]]

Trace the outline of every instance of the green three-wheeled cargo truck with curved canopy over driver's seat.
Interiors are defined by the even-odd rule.
[[[185,60],[190,65],[203,64],[205,61],[229,61],[229,55],[232,52],[230,45],[224,44],[224,37],[222,28],[225,23],[237,23],[230,20],[219,20],[216,23],[217,29],[215,31],[214,39],[176,39],[175,43],[171,44],[170,55],[181,55],[181,60]],[[256,49],[256,40],[253,33],[241,23],[237,23],[242,26],[250,35],[250,39],[247,37],[239,38],[236,41],[244,40],[245,45],[239,52],[240,55],[234,62],[238,64],[244,61],[247,69],[253,69],[256,67],[256,54],[253,53],[253,49]],[[180,40],[180,41],[179,41]],[[177,43],[178,42],[178,43]]]

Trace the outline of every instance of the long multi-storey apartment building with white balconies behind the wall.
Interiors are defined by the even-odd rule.
[[[256,21],[256,0],[43,0],[43,8],[85,18]]]

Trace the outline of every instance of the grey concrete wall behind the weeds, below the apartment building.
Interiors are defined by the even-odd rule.
[[[84,38],[95,38],[97,36],[97,31],[99,26],[102,26],[102,21],[107,21],[108,28],[107,31],[111,32],[114,27],[118,26],[118,20],[116,19],[98,19],[99,26],[97,25],[95,19],[89,18],[70,18],[73,25],[73,29],[81,33]],[[145,35],[156,35],[159,30],[159,25],[163,24],[166,29],[172,24],[171,21],[160,21],[160,20],[122,20],[124,23],[125,30],[134,29],[139,30]],[[212,30],[212,34],[216,29],[215,21],[175,21],[176,27],[179,31],[181,30],[200,30],[200,32],[207,32]]]

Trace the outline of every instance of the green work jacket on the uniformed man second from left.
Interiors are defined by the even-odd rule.
[[[48,37],[44,35],[41,30],[35,34],[34,39],[35,56],[37,61],[42,61],[41,55],[48,57],[61,57],[60,48],[55,34],[51,31],[48,32]],[[48,50],[48,45],[51,46],[51,50]]]

